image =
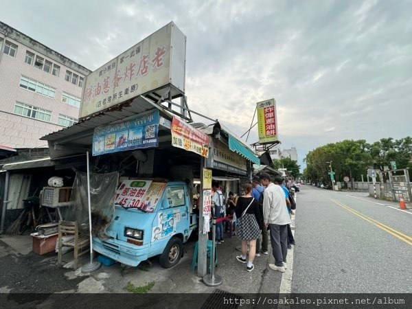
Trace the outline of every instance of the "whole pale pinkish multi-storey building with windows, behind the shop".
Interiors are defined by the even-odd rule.
[[[77,122],[89,73],[0,21],[0,145],[47,148],[40,137]]]

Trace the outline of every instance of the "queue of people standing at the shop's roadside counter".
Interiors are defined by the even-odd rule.
[[[268,266],[283,273],[287,268],[288,249],[295,244],[290,228],[291,214],[296,207],[295,189],[288,189],[282,177],[272,179],[269,174],[254,176],[251,183],[244,185],[242,196],[229,192],[227,201],[218,181],[214,181],[212,187],[216,218],[233,216],[233,225],[224,227],[221,221],[216,223],[216,242],[224,242],[224,229],[226,232],[233,229],[232,235],[237,233],[241,240],[241,254],[236,260],[247,264],[247,271],[253,271],[255,257],[268,255],[270,238],[275,263]]]

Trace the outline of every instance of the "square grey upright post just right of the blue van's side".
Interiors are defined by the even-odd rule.
[[[207,240],[209,236],[207,233],[203,233],[203,226],[205,225],[205,217],[203,217],[203,172],[205,168],[205,158],[201,157],[201,192],[199,198],[199,204],[201,205],[199,209],[199,238],[198,238],[198,276],[204,277],[207,274]],[[206,218],[209,220],[209,218]]]

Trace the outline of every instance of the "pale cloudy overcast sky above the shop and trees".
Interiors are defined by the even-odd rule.
[[[0,20],[91,70],[174,21],[189,107],[242,135],[275,98],[282,148],[302,165],[330,142],[412,135],[411,13],[406,0],[14,0]]]

